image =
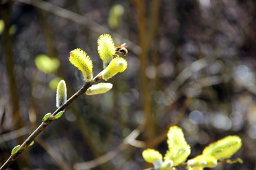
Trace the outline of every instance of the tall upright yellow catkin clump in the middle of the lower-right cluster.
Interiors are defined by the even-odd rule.
[[[191,150],[189,144],[187,144],[183,131],[178,126],[170,127],[167,134],[167,144],[169,150],[165,154],[165,161],[173,161],[173,166],[186,161]]]

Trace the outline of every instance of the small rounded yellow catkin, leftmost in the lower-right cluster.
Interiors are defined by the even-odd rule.
[[[157,168],[162,164],[162,155],[157,150],[147,149],[142,152],[144,160],[148,163],[153,163]]]

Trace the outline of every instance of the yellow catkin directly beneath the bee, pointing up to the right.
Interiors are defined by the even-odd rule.
[[[118,72],[124,72],[127,69],[127,61],[124,58],[116,57],[108,64],[108,66],[102,71],[102,79],[108,80]]]

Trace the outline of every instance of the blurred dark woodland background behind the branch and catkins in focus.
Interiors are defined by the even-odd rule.
[[[127,43],[128,69],[108,81],[110,92],[70,104],[10,169],[146,169],[141,152],[165,154],[170,125],[184,130],[189,158],[241,136],[233,158],[244,163],[214,169],[256,169],[255,8],[254,0],[1,0],[0,163],[56,109],[59,80],[68,97],[83,86],[69,52],[85,50],[97,75],[97,38],[110,34]]]

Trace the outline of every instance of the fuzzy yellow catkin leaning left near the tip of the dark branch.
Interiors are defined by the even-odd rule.
[[[91,58],[86,54],[86,52],[80,48],[72,50],[70,52],[69,61],[81,72],[83,72],[86,82],[91,81],[93,64]]]

